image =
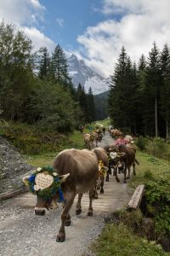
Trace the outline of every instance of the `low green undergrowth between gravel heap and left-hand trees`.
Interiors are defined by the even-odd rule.
[[[56,131],[45,131],[36,125],[5,123],[0,126],[0,136],[6,137],[22,154],[56,152],[67,137]]]

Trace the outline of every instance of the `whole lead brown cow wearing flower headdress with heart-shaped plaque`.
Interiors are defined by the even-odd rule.
[[[83,193],[89,191],[88,216],[93,215],[92,199],[98,175],[98,154],[88,149],[72,148],[61,151],[53,167],[37,168],[31,177],[23,178],[31,192],[37,195],[37,215],[45,215],[51,201],[62,201],[61,226],[56,241],[65,241],[65,225],[71,224],[69,212],[77,194],[77,214],[82,212]]]

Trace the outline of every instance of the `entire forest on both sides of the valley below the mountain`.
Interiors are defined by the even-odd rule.
[[[122,47],[109,92],[94,96],[71,83],[64,50],[56,45],[33,52],[30,38],[0,23],[0,117],[59,132],[111,117],[116,128],[135,136],[169,137],[170,50],[158,49],[131,61]]]

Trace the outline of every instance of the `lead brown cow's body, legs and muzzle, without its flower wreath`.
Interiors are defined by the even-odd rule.
[[[82,212],[81,199],[84,192],[89,191],[88,216],[93,216],[92,199],[94,195],[94,186],[99,173],[99,160],[95,151],[88,149],[65,149],[61,151],[54,160],[54,173],[61,180],[61,191],[65,202],[61,212],[61,226],[56,241],[65,241],[65,225],[71,224],[70,210],[78,194],[76,213]],[[28,182],[28,177],[24,177],[24,182]],[[37,195],[37,205],[35,214],[45,215],[51,201],[59,199],[59,192],[54,198],[39,197]]]

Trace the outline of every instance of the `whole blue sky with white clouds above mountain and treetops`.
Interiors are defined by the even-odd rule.
[[[132,61],[154,41],[170,46],[170,0],[0,0],[0,20],[31,38],[34,50],[59,44],[107,78],[122,46]]]

